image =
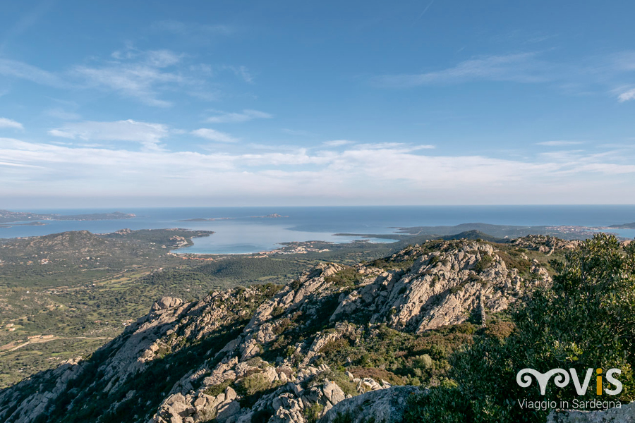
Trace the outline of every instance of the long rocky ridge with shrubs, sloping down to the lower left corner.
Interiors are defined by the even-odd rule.
[[[282,287],[162,298],[90,359],[0,391],[0,421],[307,423],[359,407],[356,418],[397,418],[419,388],[329,367],[325,348],[354,345],[362,330],[416,336],[500,312],[549,283],[526,263],[529,278],[489,243],[442,240],[370,264],[320,264]]]

